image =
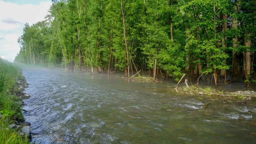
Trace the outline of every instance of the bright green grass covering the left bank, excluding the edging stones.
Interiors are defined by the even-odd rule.
[[[3,144],[29,143],[26,136],[19,135],[19,128],[9,128],[24,119],[18,104],[21,99],[13,94],[18,89],[17,80],[25,80],[21,71],[0,58],[0,143]]]

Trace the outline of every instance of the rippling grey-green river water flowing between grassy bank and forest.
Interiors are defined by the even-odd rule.
[[[169,82],[120,75],[24,70],[32,142],[255,143],[256,103],[220,103],[167,92]],[[238,118],[243,120],[238,120]]]

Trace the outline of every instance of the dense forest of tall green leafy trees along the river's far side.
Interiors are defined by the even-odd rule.
[[[256,0],[53,0],[16,63],[92,73],[255,81]]]

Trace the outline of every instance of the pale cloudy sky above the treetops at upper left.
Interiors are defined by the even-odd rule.
[[[44,20],[51,0],[0,0],[0,57],[13,62],[25,23]]]

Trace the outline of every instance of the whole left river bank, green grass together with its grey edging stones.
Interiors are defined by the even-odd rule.
[[[22,115],[23,99],[29,98],[26,87],[21,70],[0,58],[0,143],[29,143],[30,123]]]

